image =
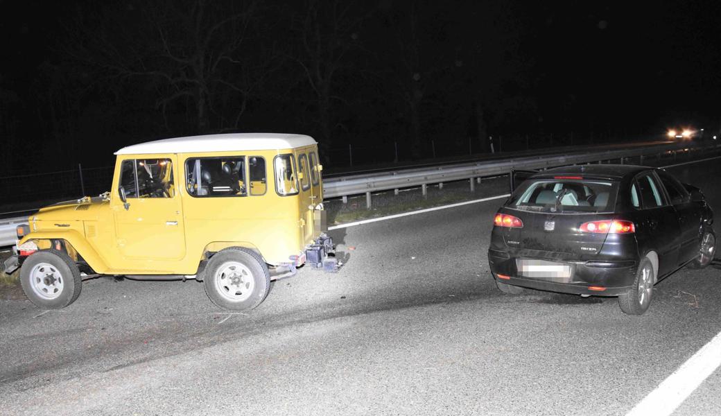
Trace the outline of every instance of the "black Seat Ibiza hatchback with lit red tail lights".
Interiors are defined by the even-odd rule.
[[[714,258],[703,193],[663,169],[599,164],[510,177],[512,194],[495,215],[488,249],[504,293],[618,296],[622,311],[640,315],[655,283]]]

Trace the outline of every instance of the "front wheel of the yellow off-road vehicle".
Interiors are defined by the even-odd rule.
[[[40,250],[22,263],[20,284],[38,308],[62,309],[72,304],[82,288],[80,270],[65,252]]]

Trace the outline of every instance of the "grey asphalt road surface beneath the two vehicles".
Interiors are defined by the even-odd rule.
[[[721,207],[719,160],[672,169]],[[642,317],[615,298],[497,291],[499,200],[332,231],[247,314],[195,281],[98,278],[61,311],[0,302],[4,415],[624,415],[721,331],[721,270],[681,270]],[[718,208],[721,209],[721,208]],[[678,415],[721,414],[715,371]]]

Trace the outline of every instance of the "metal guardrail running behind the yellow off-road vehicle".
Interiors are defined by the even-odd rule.
[[[402,169],[370,174],[355,174],[345,177],[327,178],[323,180],[323,198],[342,198],[348,201],[350,195],[366,194],[366,206],[371,208],[371,194],[395,190],[405,187],[421,187],[426,195],[428,185],[443,184],[468,180],[470,189],[474,190],[478,178],[493,177],[508,174],[510,169],[547,169],[568,164],[584,164],[619,160],[622,164],[631,158],[639,158],[643,164],[644,158],[669,154],[676,159],[679,152],[713,151],[721,149],[721,145],[691,146],[684,143],[671,143],[650,146],[643,149],[618,149],[606,151],[593,151],[581,154],[560,156],[526,156],[514,159],[477,161],[462,164],[446,164],[438,167],[423,167],[416,169]],[[27,224],[27,216],[6,218],[0,220],[0,247],[14,244],[15,227]]]

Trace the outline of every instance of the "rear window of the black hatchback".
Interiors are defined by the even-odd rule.
[[[601,213],[613,211],[617,182],[595,180],[527,180],[507,206],[523,211]]]

